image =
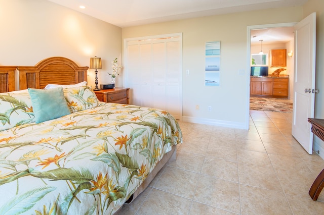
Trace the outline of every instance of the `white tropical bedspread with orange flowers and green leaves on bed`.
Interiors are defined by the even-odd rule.
[[[111,214],[172,145],[165,111],[103,103],[0,132],[0,214]]]

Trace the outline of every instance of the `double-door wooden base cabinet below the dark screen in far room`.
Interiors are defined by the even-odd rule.
[[[272,95],[272,78],[251,78],[251,95]]]

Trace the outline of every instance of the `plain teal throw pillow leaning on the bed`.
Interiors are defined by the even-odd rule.
[[[41,123],[71,114],[64,97],[63,88],[28,88],[35,122]]]

